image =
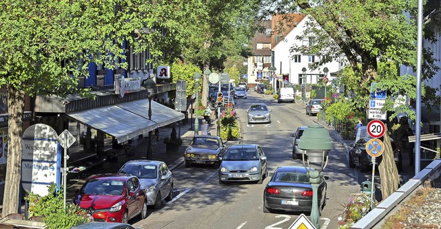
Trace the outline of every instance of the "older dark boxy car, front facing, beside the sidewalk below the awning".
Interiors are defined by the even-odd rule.
[[[218,168],[219,157],[225,153],[222,138],[212,135],[196,135],[190,145],[185,149],[185,167],[192,164],[213,164]]]

